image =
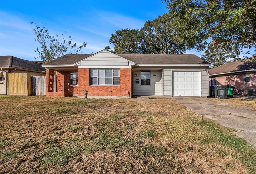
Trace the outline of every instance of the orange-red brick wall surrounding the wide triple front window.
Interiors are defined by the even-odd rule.
[[[132,69],[120,68],[120,85],[90,85],[90,69],[79,68],[79,96],[126,96],[125,91],[128,90],[131,95],[132,91]],[[111,90],[112,92],[109,92]]]

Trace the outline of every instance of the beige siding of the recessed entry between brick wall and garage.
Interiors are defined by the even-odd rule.
[[[135,73],[137,74],[137,76],[135,76]],[[141,86],[140,70],[133,70],[133,95],[161,95],[161,70],[151,70],[150,75],[152,74],[156,74],[156,76],[150,76],[150,86]],[[136,79],[139,80],[139,83],[136,83]]]

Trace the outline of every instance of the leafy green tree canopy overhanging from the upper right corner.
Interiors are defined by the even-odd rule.
[[[256,58],[256,1],[255,0],[167,0],[169,13],[189,21],[196,20],[195,28],[181,20],[182,26],[194,27],[202,40],[218,43],[218,47],[240,54],[253,48],[252,61]],[[198,22],[200,21],[200,22]],[[249,55],[249,52],[244,52]],[[245,57],[246,58],[246,57]]]

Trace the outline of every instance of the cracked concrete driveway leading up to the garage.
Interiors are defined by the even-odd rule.
[[[218,104],[201,97],[173,97],[198,114],[222,126],[239,130],[236,134],[256,147],[256,109]]]

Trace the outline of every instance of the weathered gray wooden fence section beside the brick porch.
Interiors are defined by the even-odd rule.
[[[31,94],[46,95],[46,76],[31,76]]]

